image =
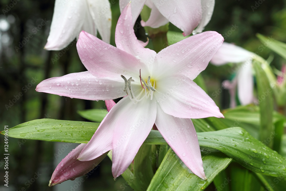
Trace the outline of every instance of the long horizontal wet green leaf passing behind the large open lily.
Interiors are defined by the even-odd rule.
[[[9,129],[9,136],[71,143],[87,143],[98,123],[38,119]],[[4,131],[1,134],[5,134]],[[178,135],[179,136],[179,135]],[[240,127],[198,133],[200,146],[222,151],[242,166],[268,176],[286,175],[286,160]],[[166,144],[159,131],[152,130],[144,144]]]

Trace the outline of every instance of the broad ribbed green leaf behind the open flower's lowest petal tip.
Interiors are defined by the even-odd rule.
[[[167,152],[162,164],[156,171],[147,191],[153,190],[204,190],[231,162],[231,158],[219,151],[201,152],[204,172],[208,180],[202,180],[174,153]]]

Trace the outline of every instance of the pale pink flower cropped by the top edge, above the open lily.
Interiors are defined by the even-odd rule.
[[[130,0],[120,0],[120,10]],[[208,24],[215,7],[215,0],[136,0],[132,1],[132,23],[136,22],[144,4],[152,9],[148,21],[141,21],[142,26],[158,28],[169,21],[183,31],[183,35],[200,33]],[[197,27],[197,28],[196,28]],[[196,28],[196,30],[194,30]]]

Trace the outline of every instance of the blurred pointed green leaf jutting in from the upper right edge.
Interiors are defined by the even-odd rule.
[[[266,47],[273,50],[281,57],[286,59],[286,44],[277,40],[274,40],[272,37],[266,37],[261,34],[256,35],[259,40],[265,44]],[[266,45],[267,44],[267,45]]]

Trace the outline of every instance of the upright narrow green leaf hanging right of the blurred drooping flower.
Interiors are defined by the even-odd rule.
[[[269,138],[269,135],[274,132],[273,129],[273,97],[272,89],[270,87],[268,78],[261,68],[261,64],[253,62],[253,67],[256,74],[258,102],[260,107],[260,126],[259,140],[263,141],[267,146],[273,147],[273,139],[265,142]]]

